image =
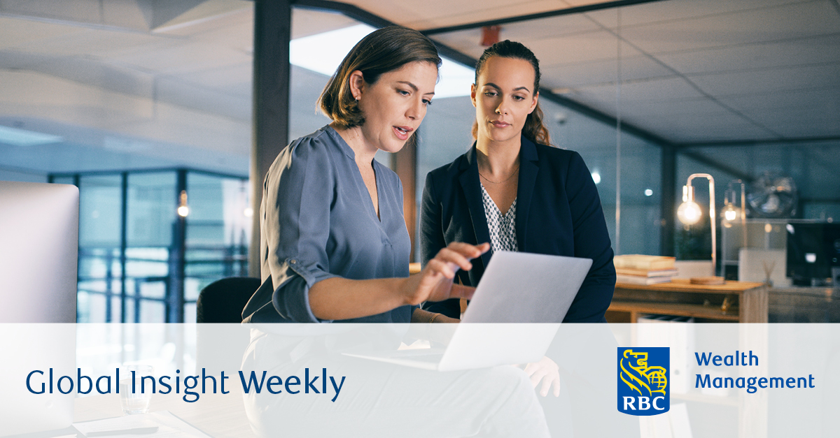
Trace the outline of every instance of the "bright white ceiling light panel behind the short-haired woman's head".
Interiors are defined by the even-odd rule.
[[[376,28],[367,24],[356,24],[342,29],[330,30],[289,43],[289,62],[292,65],[333,76],[353,46]],[[316,55],[317,54],[317,55]],[[470,96],[470,86],[475,79],[475,70],[445,56],[438,70],[439,81],[434,88],[434,97]]]

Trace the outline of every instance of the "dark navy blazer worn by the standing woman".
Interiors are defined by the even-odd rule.
[[[481,201],[475,143],[452,163],[426,177],[420,218],[423,266],[451,242],[490,242]],[[522,137],[517,188],[517,243],[523,253],[591,258],[592,267],[563,322],[604,322],[616,286],[610,236],[592,175],[580,154],[535,144]],[[458,272],[475,286],[491,251]],[[458,300],[427,303],[424,309],[459,317]]]

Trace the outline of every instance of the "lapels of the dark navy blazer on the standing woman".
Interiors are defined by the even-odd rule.
[[[461,156],[459,163],[459,181],[464,190],[467,207],[470,209],[475,242],[490,242],[490,229],[484,214],[484,204],[481,203],[481,183],[478,175],[478,160],[476,159],[475,142],[466,154]],[[537,146],[528,138],[522,136],[522,146],[519,149],[519,179],[517,180],[517,242],[519,250],[528,251],[528,213],[531,210],[531,198],[539,170]],[[484,266],[490,262],[491,251],[481,255]]]

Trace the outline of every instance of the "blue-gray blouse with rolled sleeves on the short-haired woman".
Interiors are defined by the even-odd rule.
[[[411,242],[400,179],[374,160],[380,219],[354,158],[353,149],[326,126],[286,146],[271,164],[260,206],[260,259],[262,279],[271,277],[274,292],[258,320],[329,322],[312,315],[312,284],[332,277],[408,276]],[[345,321],[408,322],[412,310],[405,305]]]

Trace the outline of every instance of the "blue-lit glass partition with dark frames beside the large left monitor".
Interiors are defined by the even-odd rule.
[[[244,177],[171,169],[50,181],[79,187],[79,322],[194,322],[204,286],[248,273]]]

